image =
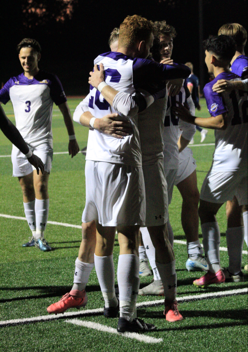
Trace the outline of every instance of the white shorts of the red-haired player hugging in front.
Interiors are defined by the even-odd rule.
[[[86,203],[82,222],[102,226],[145,225],[142,168],[86,160]]]

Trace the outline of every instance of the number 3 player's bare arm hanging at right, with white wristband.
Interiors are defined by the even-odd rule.
[[[78,142],[76,140],[74,126],[72,122],[70,108],[68,106],[67,101],[58,105],[65,122],[65,126],[67,128],[68,136],[69,136],[69,144],[68,144],[68,151],[69,155],[73,158],[79,152]]]

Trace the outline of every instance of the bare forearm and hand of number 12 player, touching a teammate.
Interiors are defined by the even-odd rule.
[[[200,126],[203,128],[210,128],[212,130],[225,130],[227,128],[227,113],[217,116],[210,116],[208,118],[201,118],[192,116],[190,111],[186,109],[180,102],[176,102],[176,107],[171,107],[174,114],[181,120],[189,124]]]

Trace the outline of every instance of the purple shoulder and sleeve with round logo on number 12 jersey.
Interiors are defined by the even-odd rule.
[[[237,78],[237,75],[231,72],[223,72],[216,76],[213,81],[207,83],[203,88],[207,108],[211,116],[218,116],[228,111],[221,93],[213,92],[213,85],[218,80],[233,80],[234,78]]]

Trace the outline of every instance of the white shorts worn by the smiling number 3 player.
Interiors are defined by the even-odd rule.
[[[50,173],[52,169],[52,160],[53,160],[53,149],[47,144],[43,143],[38,145],[35,148],[30,147],[30,150],[37,155],[45,165],[45,171]],[[11,160],[13,164],[13,176],[22,177],[31,174],[33,170],[36,170],[33,165],[31,165],[26,156],[22,154],[19,149],[12,149]]]

